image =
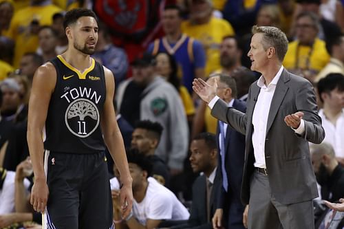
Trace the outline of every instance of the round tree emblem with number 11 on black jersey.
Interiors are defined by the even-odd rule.
[[[74,100],[65,111],[67,128],[79,138],[86,138],[96,131],[99,120],[98,108],[87,98]]]

